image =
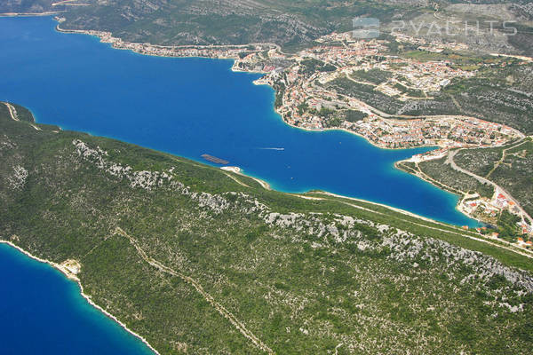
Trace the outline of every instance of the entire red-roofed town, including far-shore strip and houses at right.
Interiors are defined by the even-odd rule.
[[[62,19],[57,20],[62,22]],[[453,66],[445,59],[418,60],[387,54],[386,40],[362,41],[354,39],[351,33],[333,33],[317,39],[315,46],[291,54],[282,52],[274,43],[162,46],[124,42],[109,32],[62,30],[60,25],[58,30],[98,36],[102,43],[110,43],[116,49],[146,55],[234,59],[234,71],[264,74],[255,83],[274,88],[276,112],[294,127],[346,130],[381,148],[439,148],[404,162],[442,159],[453,149],[504,146],[525,137],[506,125],[465,115],[386,113],[356,93],[343,92],[338,86],[330,85],[344,80],[359,85],[370,95],[398,102],[431,100],[432,93],[441,91],[455,78],[470,78],[476,73]],[[395,40],[416,45],[419,51],[427,53],[466,49],[463,43],[427,43],[402,34],[397,34]],[[499,187],[491,198],[465,193],[457,209],[485,222],[496,221],[502,211],[509,211],[520,217],[518,225],[523,234],[533,237],[530,217]],[[478,232],[497,239],[497,233],[486,232],[486,229],[478,228]],[[533,243],[520,238],[517,244],[521,248],[531,248]]]

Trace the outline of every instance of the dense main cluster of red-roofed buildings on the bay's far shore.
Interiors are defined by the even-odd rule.
[[[380,69],[390,73],[384,83],[367,83],[395,99],[410,99],[409,92],[396,87],[423,92],[424,99],[431,99],[427,93],[440,91],[456,77],[471,77],[467,72],[451,66],[446,60],[420,62],[395,56],[383,56],[384,41],[355,41],[350,34],[323,36],[315,47],[290,56],[277,49],[253,52],[235,61],[236,70],[266,73],[257,83],[282,88],[282,102],[276,107],[283,119],[291,125],[311,130],[330,128],[330,116],[322,109],[337,112],[340,125],[335,127],[351,130],[362,135],[373,144],[386,148],[413,146],[490,146],[499,145],[514,137],[514,131],[496,123],[483,122],[473,118],[440,116],[426,119],[393,120],[359,99],[338,93],[327,83],[339,77],[350,78],[356,71]],[[340,45],[339,43],[342,43]],[[308,73],[301,70],[302,62],[308,59],[320,60],[333,70],[317,70]],[[354,79],[355,81],[355,79]],[[412,95],[412,93],[411,93]],[[366,118],[348,122],[342,118],[346,110],[359,111]]]

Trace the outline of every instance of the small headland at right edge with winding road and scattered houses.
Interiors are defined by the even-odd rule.
[[[434,159],[410,159],[396,166],[461,196],[460,209],[492,225],[480,233],[531,248],[531,139],[520,138],[504,146],[452,149]]]

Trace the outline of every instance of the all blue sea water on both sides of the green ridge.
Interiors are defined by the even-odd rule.
[[[215,155],[284,192],[321,189],[476,225],[455,209],[456,195],[394,169],[428,148],[383,150],[344,131],[298,130],[275,114],[274,91],[252,83],[260,75],[232,72],[231,60],[142,56],[55,25],[0,19],[0,100],[28,106],[37,122],[199,162]],[[0,352],[147,351],[76,284],[0,247]]]

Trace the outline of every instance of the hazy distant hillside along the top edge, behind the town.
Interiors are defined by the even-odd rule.
[[[350,31],[352,19],[358,16],[378,18],[387,32],[394,27],[394,20],[413,20],[415,24],[426,24],[425,28],[439,19],[459,23],[481,20],[483,29],[487,24],[482,20],[513,20],[520,23],[519,36],[505,38],[498,34],[481,39],[454,36],[445,40],[467,42],[481,51],[530,54],[533,9],[528,3],[525,0],[8,0],[0,4],[0,13],[58,12],[67,20],[64,28],[110,31],[135,43],[277,43],[286,51],[309,46],[333,31]],[[439,26],[444,25],[439,23]],[[409,32],[431,37],[426,31]]]

